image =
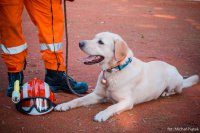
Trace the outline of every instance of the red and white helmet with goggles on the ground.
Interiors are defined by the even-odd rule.
[[[55,107],[54,93],[47,83],[37,78],[22,86],[20,99],[17,110],[30,115],[46,114]]]

